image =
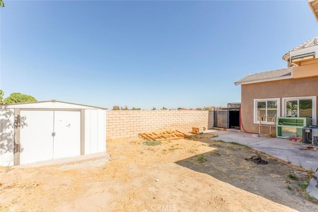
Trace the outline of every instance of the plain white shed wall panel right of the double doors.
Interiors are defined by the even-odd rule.
[[[85,109],[85,154],[106,151],[106,114],[100,109]]]

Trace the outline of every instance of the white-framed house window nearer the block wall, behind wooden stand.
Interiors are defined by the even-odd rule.
[[[279,116],[279,98],[254,99],[254,123],[273,124]]]

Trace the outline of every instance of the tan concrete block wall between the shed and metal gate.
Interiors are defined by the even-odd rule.
[[[192,131],[192,127],[213,128],[213,111],[106,111],[108,138],[138,136],[139,133],[160,130]]]

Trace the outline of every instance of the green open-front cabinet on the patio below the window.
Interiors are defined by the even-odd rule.
[[[312,124],[311,117],[277,117],[276,137],[287,139],[288,137],[302,137],[303,127]]]

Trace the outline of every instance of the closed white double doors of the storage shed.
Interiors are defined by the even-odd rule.
[[[80,155],[80,111],[20,110],[20,164]]]

